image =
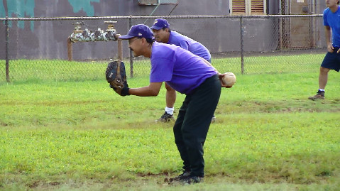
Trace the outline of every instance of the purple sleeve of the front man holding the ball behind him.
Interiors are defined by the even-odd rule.
[[[151,59],[150,82],[166,82],[172,79],[174,62],[166,58]]]

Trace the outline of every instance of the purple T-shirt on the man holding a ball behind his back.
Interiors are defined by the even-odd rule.
[[[154,42],[150,60],[150,82],[166,82],[182,94],[217,74],[202,58],[176,45]]]

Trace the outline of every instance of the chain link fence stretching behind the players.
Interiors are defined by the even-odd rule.
[[[105,31],[114,23],[125,35],[135,24],[152,26],[159,16],[0,18],[0,82],[104,80],[110,60],[121,57],[129,77],[150,72],[148,58],[133,58],[127,40],[70,43],[75,31]],[[318,71],[327,51],[322,15],[163,16],[172,31],[197,40],[220,72],[261,74]],[[23,27],[20,27],[23,26]],[[71,45],[71,58],[70,47]]]

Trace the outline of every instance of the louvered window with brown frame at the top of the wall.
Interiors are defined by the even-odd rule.
[[[267,0],[229,0],[231,15],[263,15]]]

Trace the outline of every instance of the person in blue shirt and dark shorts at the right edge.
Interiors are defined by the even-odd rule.
[[[340,6],[339,0],[326,0],[324,10],[324,28],[327,40],[327,54],[322,61],[319,72],[319,89],[317,94],[308,97],[311,100],[324,99],[324,89],[328,81],[329,70],[340,70]],[[332,36],[332,40],[331,40]]]

